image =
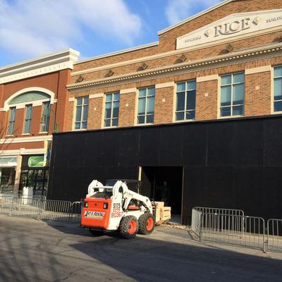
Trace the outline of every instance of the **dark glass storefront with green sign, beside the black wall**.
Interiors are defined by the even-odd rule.
[[[20,190],[32,187],[33,195],[47,195],[49,167],[44,161],[44,155],[23,156],[20,173]]]

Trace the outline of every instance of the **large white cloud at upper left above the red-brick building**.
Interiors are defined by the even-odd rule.
[[[128,46],[142,23],[124,0],[0,0],[0,48],[39,56],[97,34]]]

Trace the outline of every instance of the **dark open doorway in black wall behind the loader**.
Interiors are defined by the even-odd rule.
[[[142,166],[141,180],[142,195],[164,202],[173,214],[181,214],[183,167]]]

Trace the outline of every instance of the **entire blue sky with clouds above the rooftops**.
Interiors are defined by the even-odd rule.
[[[0,66],[71,47],[80,59],[158,40],[221,0],[0,0]]]

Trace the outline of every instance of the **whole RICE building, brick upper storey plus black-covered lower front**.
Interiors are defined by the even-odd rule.
[[[281,54],[281,0],[226,0],[158,42],[74,63],[49,197],[139,178],[154,200],[168,183],[183,223],[197,205],[281,218]]]

